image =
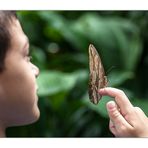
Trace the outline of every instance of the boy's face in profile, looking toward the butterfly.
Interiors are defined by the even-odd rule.
[[[0,124],[7,127],[32,123],[40,115],[36,84],[39,69],[29,60],[29,42],[18,20],[14,19],[10,30],[11,47],[5,70],[0,73]]]

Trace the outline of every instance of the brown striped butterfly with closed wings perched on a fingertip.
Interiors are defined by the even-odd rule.
[[[101,95],[98,93],[100,88],[107,86],[107,76],[105,76],[104,68],[101,62],[101,58],[96,48],[89,45],[89,99],[93,104],[98,104],[101,99]]]

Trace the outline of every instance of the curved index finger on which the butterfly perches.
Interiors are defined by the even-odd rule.
[[[123,116],[129,113],[131,109],[133,109],[133,105],[131,104],[125,93],[120,89],[106,87],[100,89],[99,94],[103,96],[113,97],[117,105],[119,106]]]

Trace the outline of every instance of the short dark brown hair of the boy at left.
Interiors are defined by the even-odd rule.
[[[4,70],[5,56],[11,46],[11,23],[17,18],[15,11],[0,11],[0,72]]]

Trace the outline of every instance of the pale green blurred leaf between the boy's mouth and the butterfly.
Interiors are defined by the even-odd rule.
[[[37,79],[39,96],[50,96],[61,91],[68,92],[76,84],[78,79],[87,77],[86,71],[62,73],[59,71],[42,71]]]

